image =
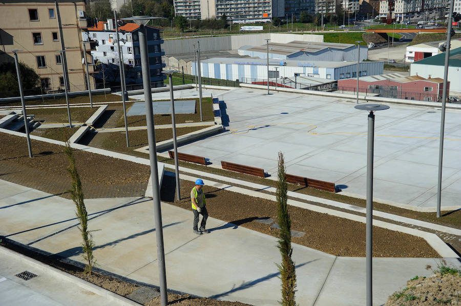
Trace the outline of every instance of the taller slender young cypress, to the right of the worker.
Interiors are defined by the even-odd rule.
[[[277,182],[277,218],[280,225],[280,238],[278,248],[282,255],[282,264],[277,265],[280,271],[280,279],[282,280],[282,300],[280,303],[283,306],[295,306],[296,292],[296,271],[295,263],[291,260],[291,220],[288,215],[287,204],[287,184],[285,175],[285,161],[283,153],[279,152],[279,170]]]

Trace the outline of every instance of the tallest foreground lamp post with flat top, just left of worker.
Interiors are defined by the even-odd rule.
[[[154,130],[154,113],[152,107],[152,90],[151,90],[151,72],[149,67],[149,51],[147,45],[147,35],[145,25],[152,19],[159,17],[150,16],[133,16],[122,18],[122,20],[134,21],[139,26],[139,49],[141,53],[141,68],[142,68],[142,85],[144,87],[145,101],[145,118],[148,126],[148,141],[149,141],[149,159],[151,161],[151,177],[152,177],[152,198],[154,201],[154,217],[155,217],[155,233],[157,238],[157,261],[158,274],[160,283],[160,299],[161,305],[166,306],[166,272],[165,272],[165,251],[163,248],[163,227],[162,227],[162,212],[160,207],[160,190],[158,181],[157,168],[157,150],[155,146],[155,130]]]

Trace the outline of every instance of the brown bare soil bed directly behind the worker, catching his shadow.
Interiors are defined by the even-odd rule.
[[[180,184],[182,199],[177,201],[174,178],[164,176],[161,200],[190,209],[191,200],[188,195],[194,183],[181,180]],[[277,220],[276,202],[206,185],[205,196],[209,216],[278,237],[277,229],[271,229],[267,224],[256,222],[258,218]],[[306,233],[301,238],[292,237],[292,242],[332,255],[365,256],[364,223],[293,206],[289,207],[289,214],[291,229]],[[424,239],[381,227],[373,227],[373,256],[439,257]]]

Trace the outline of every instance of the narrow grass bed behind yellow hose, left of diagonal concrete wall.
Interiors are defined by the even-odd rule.
[[[72,123],[85,122],[97,110],[97,107],[71,107]],[[30,109],[27,114],[35,115],[35,121],[45,123],[69,123],[67,107]]]

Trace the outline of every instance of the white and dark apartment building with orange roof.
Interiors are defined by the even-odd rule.
[[[165,66],[161,57],[165,55],[165,52],[161,49],[163,39],[160,36],[160,30],[162,29],[146,26],[151,83],[154,83],[154,87],[163,86],[163,79],[165,79],[165,76],[161,73],[162,68]],[[127,84],[141,83],[139,26],[136,23],[127,23],[119,27],[119,31],[123,63],[127,65],[127,71],[125,72],[127,74]],[[108,19],[107,22],[99,21],[96,27],[88,28],[88,31],[82,34],[82,38],[96,45],[95,50],[91,51],[91,56],[95,63],[118,66],[117,37],[113,19]]]

